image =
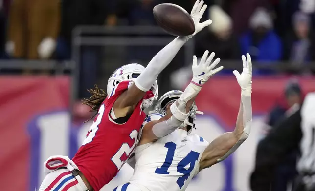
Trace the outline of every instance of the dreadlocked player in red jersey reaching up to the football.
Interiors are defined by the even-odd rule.
[[[203,1],[197,0],[191,12],[196,29],[193,35],[175,38],[146,68],[139,64],[118,68],[108,81],[107,95],[98,89],[92,91],[94,94],[85,101],[98,113],[86,139],[72,160],[65,156],[48,158],[44,164],[48,173],[40,191],[99,191],[115,177],[135,149],[146,116],[143,109],[158,97],[156,79],[159,73],[185,42],[211,24],[211,20],[199,23],[205,9]],[[170,128],[178,127],[189,114],[185,107],[185,111],[180,108],[176,109],[178,115],[183,115],[182,120],[165,116],[160,121],[167,120]],[[152,128],[152,134],[160,136],[163,133]]]

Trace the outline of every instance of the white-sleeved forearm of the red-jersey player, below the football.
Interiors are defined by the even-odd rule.
[[[135,85],[142,91],[148,91],[166,66],[173,60],[188,37],[177,37],[152,58],[146,69],[137,77]]]

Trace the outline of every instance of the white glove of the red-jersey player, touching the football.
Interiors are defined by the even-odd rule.
[[[193,9],[191,10],[190,16],[193,19],[195,23],[195,32],[192,35],[189,35],[188,38],[192,38],[197,33],[199,33],[201,30],[203,30],[204,27],[209,26],[212,23],[212,20],[206,20],[203,23],[200,23],[200,19],[203,17],[203,13],[207,8],[207,5],[203,5],[203,0],[199,1],[197,0],[193,6]]]

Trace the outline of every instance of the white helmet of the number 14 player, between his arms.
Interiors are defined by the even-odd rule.
[[[157,104],[154,107],[155,112],[158,112],[162,115],[166,115],[166,106],[168,104],[174,103],[176,100],[180,98],[180,96],[183,94],[180,90],[171,90],[165,93],[163,96],[161,96],[158,99]],[[189,125],[191,127],[195,127],[195,120],[196,120],[196,114],[203,114],[203,112],[198,111],[198,108],[196,106],[196,103],[194,102],[191,106],[189,115],[187,119],[184,121],[183,125],[181,127],[184,127],[186,125]]]

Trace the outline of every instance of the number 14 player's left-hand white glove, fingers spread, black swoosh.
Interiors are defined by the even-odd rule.
[[[199,64],[197,63],[197,57],[194,55],[192,67],[192,83],[194,83],[195,85],[202,86],[206,81],[208,81],[211,76],[223,69],[223,66],[214,69],[216,65],[220,62],[220,58],[217,58],[212,62],[215,53],[211,53],[209,57],[208,54],[209,51],[204,52]]]

